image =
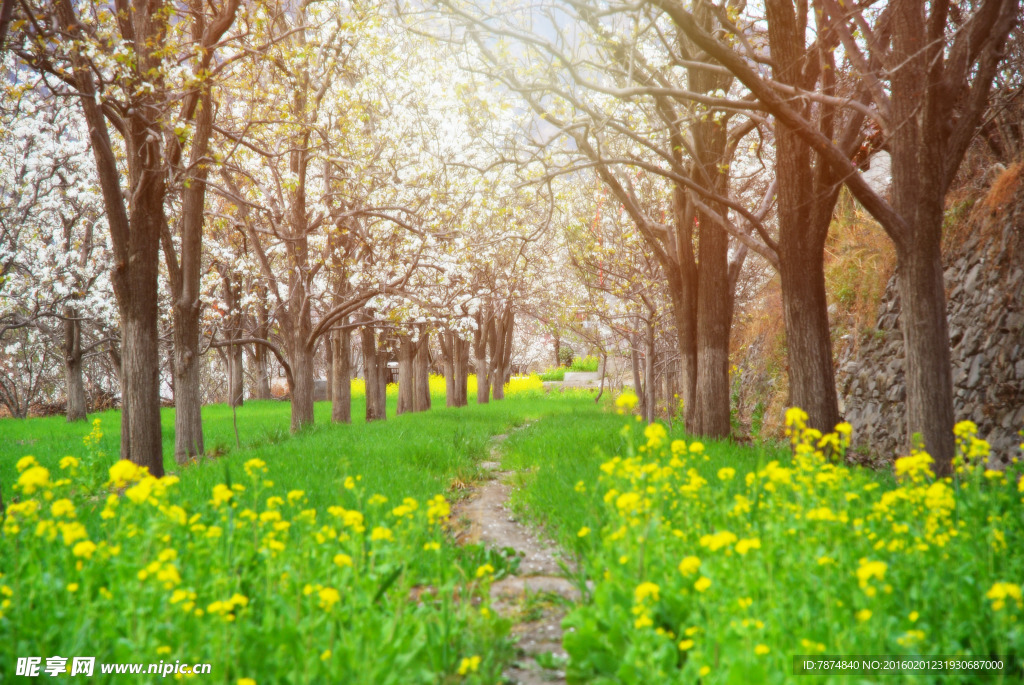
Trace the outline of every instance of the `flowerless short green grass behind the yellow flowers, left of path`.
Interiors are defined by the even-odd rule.
[[[174,410],[161,412],[165,467],[181,476],[181,494],[187,498],[208,497],[224,479],[225,469],[237,474],[248,459],[267,462],[274,478],[289,488],[306,490],[315,507],[333,504],[346,475],[360,474],[369,491],[389,498],[426,499],[445,491],[453,478],[470,481],[477,475],[475,463],[486,452],[490,436],[506,432],[542,416],[554,419],[589,410],[583,395],[525,393],[506,400],[469,408],[449,409],[443,397],[434,397],[430,412],[395,416],[394,399],[388,419],[365,423],[365,404],[353,398],[351,425],[330,422],[330,402],[317,402],[315,424],[296,435],[289,432],[288,402],[247,401],[238,410],[241,447],[236,446],[230,408],[213,404],[203,409],[207,452],[220,455],[182,469],[173,460]],[[593,404],[593,402],[589,402]],[[120,412],[89,416],[99,419],[103,437],[98,449],[108,465],[116,461],[120,445]],[[62,417],[0,420],[0,483],[10,497],[17,478],[17,460],[34,456],[44,467],[56,472],[66,455],[83,457],[82,437],[89,423],[68,424]]]

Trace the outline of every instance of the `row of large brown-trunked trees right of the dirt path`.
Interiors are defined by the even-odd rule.
[[[543,160],[544,178],[593,170],[633,220],[666,283],[696,433],[729,432],[729,332],[751,253],[780,277],[791,403],[819,429],[840,421],[823,251],[849,188],[898,258],[908,430],[948,472],[944,201],[996,119],[993,83],[1019,86],[1005,58],[1018,0],[436,5],[459,19],[449,40],[475,43],[470,68],[544,122],[544,153],[519,161]],[[860,173],[874,149],[892,158],[889,197]]]

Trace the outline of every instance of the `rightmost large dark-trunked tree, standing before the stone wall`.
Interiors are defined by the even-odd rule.
[[[795,92],[764,78],[749,56],[702,30],[681,3],[658,0],[656,4],[694,43],[735,74],[782,126],[820,156],[892,239],[907,362],[908,440],[920,433],[937,472],[949,473],[954,441],[942,281],[943,204],[980,127],[1020,3],[984,0],[974,11],[964,13],[948,3],[923,0],[895,0],[881,9],[870,2],[844,7],[822,0],[814,9],[822,17],[825,33],[835,32],[865,84],[862,99],[846,102],[830,100],[827,94]],[[770,29],[773,19],[777,23],[790,10],[777,3],[768,6],[779,12],[769,14]],[[802,20],[797,19],[797,26]],[[792,94],[856,108],[870,116],[892,151],[891,204],[851,169],[843,145],[791,103]]]

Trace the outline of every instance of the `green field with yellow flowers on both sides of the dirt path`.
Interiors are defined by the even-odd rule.
[[[209,661],[212,682],[245,685],[502,682],[510,626],[487,587],[514,562],[454,546],[442,524],[511,431],[513,506],[579,562],[569,682],[785,683],[797,655],[1020,663],[1024,484],[1017,466],[985,470],[970,425],[956,476],[936,479],[923,453],[885,472],[834,463],[844,433],[805,430],[799,413],[792,444],[696,441],[645,426],[628,397],[609,411],[540,385],[455,410],[437,394],[401,417],[392,399],[371,425],[332,425],[319,403],[296,435],[287,403],[248,402],[238,446],[230,411],[209,406],[217,457],[168,464],[167,481],[119,466],[106,482],[117,413],[91,417],[98,428],[0,421],[0,643]],[[164,422],[169,455],[172,411]],[[0,659],[0,680],[11,667]]]

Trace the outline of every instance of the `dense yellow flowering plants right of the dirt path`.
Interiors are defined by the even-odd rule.
[[[625,395],[616,404],[626,410],[631,401]],[[992,611],[1008,622],[1024,617],[1022,586],[991,580],[1019,568],[1002,558],[1019,558],[1024,530],[1017,517],[1004,512],[1007,499],[1024,491],[1018,484],[1024,481],[986,468],[987,444],[974,437],[971,425],[957,426],[962,456],[955,477],[936,478],[931,456],[916,449],[895,460],[895,481],[887,482],[845,465],[849,424],[822,435],[806,421],[805,413],[790,410],[792,458],[749,469],[709,464],[702,444],[670,440],[659,424],[635,436],[632,422],[623,429],[628,451],[600,465],[594,488],[605,503],[604,526],[593,531],[584,526],[578,533],[586,563],[597,571],[598,600],[570,620],[584,633],[610,625],[622,615],[613,608],[617,602],[631,610],[635,631],[629,646],[594,656],[594,663],[636,654],[630,668],[640,670],[631,673],[683,681],[685,675],[654,667],[643,671],[639,655],[664,653],[656,645],[672,640],[685,652],[682,663],[691,676],[700,678],[712,661],[739,662],[735,654],[719,651],[736,640],[746,645],[752,663],[798,652],[857,653],[877,644],[920,650],[932,638],[915,622],[948,600],[923,589],[934,585],[930,574],[948,567],[954,553],[972,560],[974,577],[989,574],[985,604]],[[573,490],[587,495],[591,485],[580,482]],[[766,586],[765,579],[772,583]],[[911,597],[914,604],[907,605]],[[977,610],[980,593],[974,601]],[[810,615],[821,616],[822,625],[808,625]],[[894,632],[896,615],[909,624]],[[675,636],[693,623],[708,634]],[[966,644],[971,637],[950,640]],[[567,649],[573,659],[587,661],[586,650],[574,653],[572,645],[595,649],[601,639],[587,642],[574,635]],[[736,668],[732,675],[744,679],[775,672],[750,663]],[[599,679],[597,673],[589,677]]]

